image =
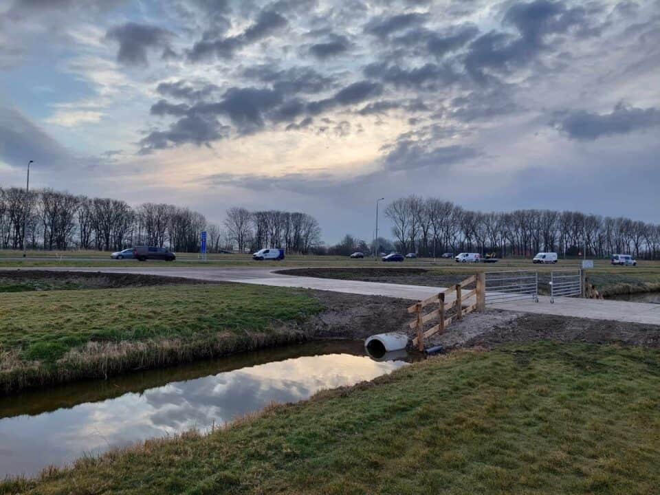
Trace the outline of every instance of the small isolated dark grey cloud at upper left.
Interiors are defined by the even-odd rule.
[[[117,61],[126,65],[148,65],[147,50],[152,48],[168,49],[173,33],[154,25],[126,23],[111,28],[107,39],[119,43]]]

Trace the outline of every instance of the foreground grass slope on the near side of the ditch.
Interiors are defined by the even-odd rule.
[[[463,351],[0,493],[654,494],[660,351]]]

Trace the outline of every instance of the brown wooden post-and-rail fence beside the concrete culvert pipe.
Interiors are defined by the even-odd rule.
[[[467,286],[474,285],[474,288],[470,289]],[[417,346],[419,351],[424,350],[424,339],[432,336],[434,333],[443,332],[453,321],[461,320],[464,315],[471,313],[472,311],[483,311],[485,308],[485,274],[483,272],[470,277],[465,278],[465,280],[459,284],[454,285],[453,287],[448,287],[443,292],[439,292],[435,296],[426,298],[419,303],[408,308],[408,313],[415,313],[416,318],[408,325],[411,329],[417,331],[417,336],[412,340],[412,344]],[[463,289],[467,289],[464,291]],[[454,300],[451,303],[447,302],[448,296],[453,293],[456,293]],[[467,301],[469,298],[474,296],[474,303],[466,305],[463,307],[463,302]],[[422,314],[422,310],[425,307],[430,305],[437,304],[437,309],[430,311],[430,313]],[[456,308],[454,314],[447,318],[447,313],[452,308]],[[426,323],[438,320],[437,325],[434,325],[430,329],[424,331],[424,325]]]

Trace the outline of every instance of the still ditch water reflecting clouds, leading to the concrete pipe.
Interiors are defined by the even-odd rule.
[[[0,398],[0,478],[38,474],[83,455],[213,425],[391,373],[411,360],[372,359],[362,342],[308,342],[109,380]]]

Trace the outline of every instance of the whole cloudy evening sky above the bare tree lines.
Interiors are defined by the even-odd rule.
[[[659,223],[659,83],[660,0],[0,0],[0,186]]]

